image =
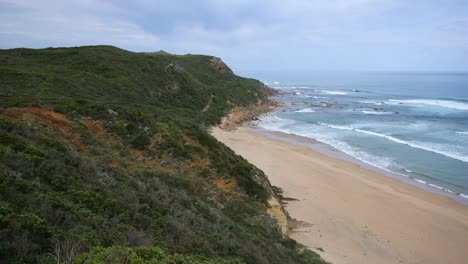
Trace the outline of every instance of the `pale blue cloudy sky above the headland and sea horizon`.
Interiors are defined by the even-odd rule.
[[[235,71],[468,71],[468,0],[0,0],[0,48],[114,45]]]

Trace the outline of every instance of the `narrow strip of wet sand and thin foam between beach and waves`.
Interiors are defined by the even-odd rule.
[[[398,180],[404,184],[408,184],[411,186],[414,186],[418,189],[437,194],[437,195],[442,195],[451,198],[452,200],[456,201],[459,204],[462,204],[464,206],[468,206],[468,196],[465,194],[459,194],[455,193],[449,189],[440,187],[436,185],[431,185],[430,182],[425,182],[422,180],[419,180],[417,178],[414,178],[412,176],[400,174],[394,171],[390,171],[384,168],[377,167],[373,164],[367,163],[365,161],[362,161],[360,159],[357,159],[353,157],[352,155],[349,155],[339,149],[334,148],[331,145],[328,145],[326,143],[320,142],[314,138],[309,138],[309,137],[304,137],[300,135],[295,135],[295,134],[288,134],[285,132],[281,131],[274,131],[274,130],[268,130],[265,128],[262,128],[256,124],[253,124],[252,121],[245,123],[245,126],[249,126],[252,128],[256,133],[259,133],[261,135],[264,135],[266,137],[276,139],[276,140],[281,140],[285,141],[288,143],[292,144],[298,144],[301,146],[305,146],[307,148],[310,148],[312,151],[319,152],[323,155],[326,155],[331,158],[336,158],[344,161],[348,161],[351,163],[354,163],[356,165],[359,165],[363,168],[366,168],[368,170],[372,170],[374,172],[377,172],[379,174],[385,175],[387,177],[390,177],[392,179]]]

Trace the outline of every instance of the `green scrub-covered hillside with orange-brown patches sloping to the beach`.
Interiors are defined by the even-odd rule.
[[[270,93],[211,56],[0,50],[0,262],[323,263],[207,132]]]

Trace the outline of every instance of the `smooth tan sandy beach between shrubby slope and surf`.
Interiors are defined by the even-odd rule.
[[[467,206],[248,126],[212,134],[297,199],[290,236],[326,260],[468,263]]]

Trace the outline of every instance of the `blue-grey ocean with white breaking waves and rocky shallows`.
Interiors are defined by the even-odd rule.
[[[313,138],[468,199],[468,74],[254,73],[285,105],[262,128]]]

